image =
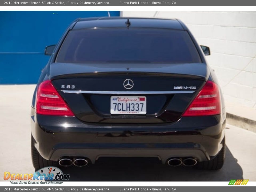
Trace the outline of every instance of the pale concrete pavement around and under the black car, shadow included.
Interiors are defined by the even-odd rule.
[[[35,85],[0,85],[0,181],[4,171],[33,173],[30,156],[30,105]],[[227,125],[226,161],[219,171],[167,167],[125,160],[66,168],[71,181],[256,181],[256,133]],[[87,174],[88,173],[88,174]]]

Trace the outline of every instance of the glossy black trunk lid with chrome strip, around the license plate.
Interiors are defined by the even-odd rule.
[[[181,117],[205,84],[209,71],[205,63],[52,63],[48,76],[81,121],[167,123]],[[126,79],[133,81],[132,89],[123,86]],[[147,113],[111,114],[110,98],[117,95],[145,96]]]

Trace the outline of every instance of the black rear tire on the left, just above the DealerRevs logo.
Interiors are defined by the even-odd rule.
[[[35,144],[35,140],[34,140],[33,136],[31,135],[31,158],[32,158],[32,164],[36,171],[39,169],[42,169],[43,167],[48,167],[48,166],[57,167],[58,166],[58,163],[56,161],[48,161],[45,158],[43,158],[38,153],[34,144]]]

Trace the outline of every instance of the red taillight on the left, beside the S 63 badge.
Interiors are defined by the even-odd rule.
[[[37,89],[36,112],[41,115],[75,116],[49,80],[43,81]]]

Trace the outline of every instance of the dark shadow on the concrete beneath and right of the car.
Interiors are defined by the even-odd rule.
[[[107,158],[87,167],[61,167],[69,181],[230,181],[243,179],[243,170],[226,146],[226,161],[221,170],[195,167],[169,167],[153,159]]]

